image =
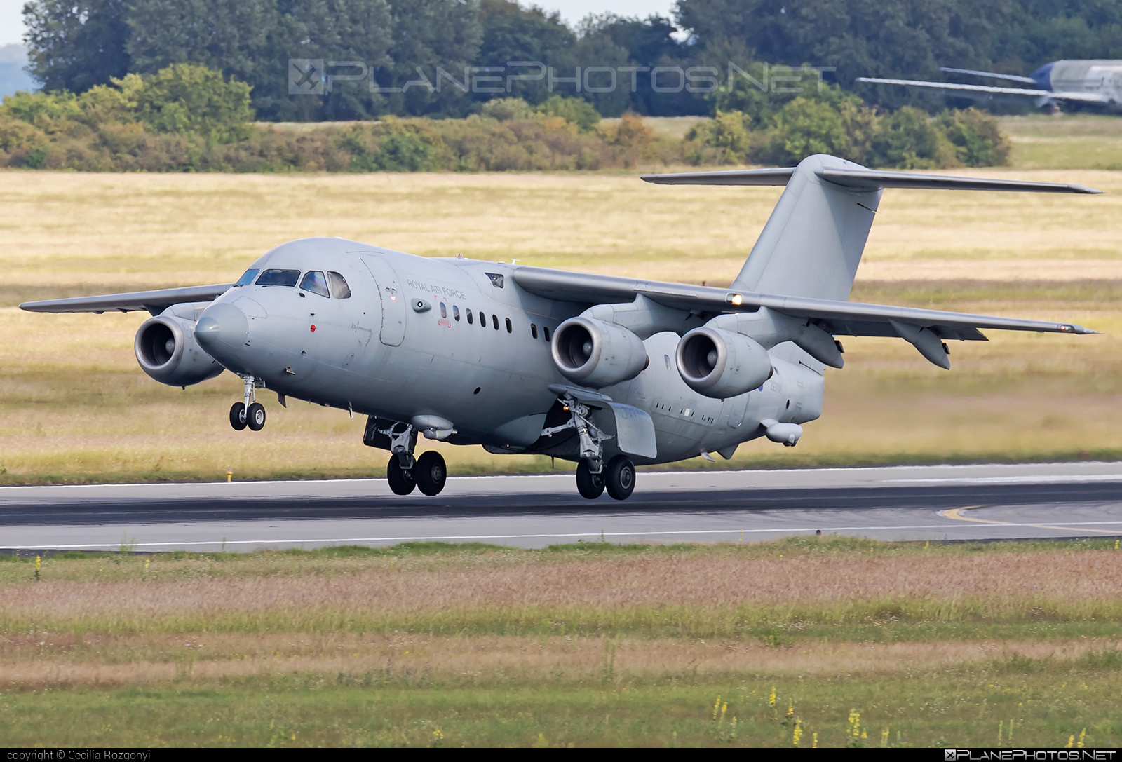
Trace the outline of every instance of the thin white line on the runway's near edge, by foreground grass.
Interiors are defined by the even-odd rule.
[[[1079,521],[1064,522],[1068,526],[1092,526],[1102,524],[1122,524],[1122,521]],[[1004,523],[1001,526],[1028,526],[1039,529],[1040,523],[1012,524]],[[745,529],[745,530],[682,530],[677,532],[580,532],[574,534],[448,534],[441,536],[415,536],[415,538],[306,538],[303,540],[204,540],[193,542],[137,542],[128,543],[129,548],[157,548],[162,545],[280,545],[280,544],[304,544],[309,542],[438,542],[448,540],[536,540],[543,538],[651,538],[663,535],[682,534],[767,534],[770,532],[853,532],[853,531],[884,531],[884,530],[969,530],[993,529],[993,526],[975,526],[969,524],[912,524],[904,526],[781,526],[773,529]],[[84,545],[50,545],[53,550],[80,550],[83,548],[120,548],[120,542],[102,542]],[[40,550],[44,545],[7,545],[3,550]]]

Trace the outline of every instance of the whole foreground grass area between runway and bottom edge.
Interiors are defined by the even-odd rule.
[[[36,580],[9,557],[0,745],[1116,746],[1120,559],[415,544],[67,554]]]

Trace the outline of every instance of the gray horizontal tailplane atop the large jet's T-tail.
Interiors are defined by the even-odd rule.
[[[728,169],[723,172],[682,172],[666,175],[643,175],[649,183],[660,185],[785,185],[794,167],[778,169]],[[956,177],[918,172],[882,172],[879,169],[819,169],[822,180],[835,185],[861,190],[908,187],[917,190],[1020,191],[1029,193],[1102,193],[1070,183],[1037,183],[1024,180],[987,180]]]

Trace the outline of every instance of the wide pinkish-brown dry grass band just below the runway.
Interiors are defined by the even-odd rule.
[[[891,545],[791,541],[764,551],[649,549],[606,558],[370,552],[314,557],[310,564],[273,553],[228,562],[218,572],[204,557],[144,566],[63,560],[48,563],[35,582],[26,564],[16,564],[3,570],[0,632],[511,634],[537,632],[545,622],[546,632],[732,636],[761,624],[885,618],[1122,619],[1122,554],[1115,550],[876,551],[883,547]],[[784,548],[785,558],[775,552]]]

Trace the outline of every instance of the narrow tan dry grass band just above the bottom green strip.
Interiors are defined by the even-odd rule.
[[[47,641],[43,639],[47,637]],[[690,672],[701,679],[729,673],[772,676],[899,676],[974,665],[1011,653],[1034,660],[1072,661],[1116,650],[1106,639],[1055,641],[935,641],[909,643],[813,642],[775,648],[758,641],[698,639],[611,640],[615,672],[650,680]],[[217,683],[292,673],[390,674],[426,671],[438,682],[489,682],[496,674],[519,681],[594,681],[605,668],[605,639],[596,636],[231,635],[144,637],[52,633],[0,637],[0,685],[47,688],[168,686],[188,678]]]

